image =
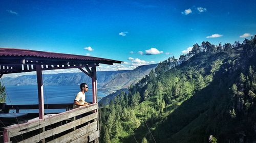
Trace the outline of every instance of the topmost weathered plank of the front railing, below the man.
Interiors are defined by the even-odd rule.
[[[24,124],[15,124],[8,126],[6,129],[8,129],[9,132],[11,132],[11,136],[20,135],[22,133],[27,133],[45,126],[48,126],[50,124],[54,124],[63,120],[70,119],[72,117],[81,115],[82,113],[86,113],[92,110],[95,110],[98,108],[98,104],[91,104],[89,107],[79,107],[76,109],[72,109],[66,112],[59,113],[54,116],[50,116],[45,118],[45,120],[34,120],[32,122],[27,122]]]

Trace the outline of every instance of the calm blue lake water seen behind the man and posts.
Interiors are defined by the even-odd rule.
[[[44,85],[44,102],[45,104],[73,103],[79,91],[79,85]],[[38,104],[37,85],[6,86],[6,92],[10,98],[6,97],[7,105]],[[98,91],[98,98],[104,96],[106,94]],[[89,91],[86,93],[86,101],[92,102],[90,85]],[[20,110],[20,112],[26,111]]]

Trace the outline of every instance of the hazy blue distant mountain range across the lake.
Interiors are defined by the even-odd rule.
[[[139,66],[134,70],[97,71],[98,90],[109,94],[116,90],[128,88],[155,69],[158,64]],[[45,85],[77,85],[82,82],[91,84],[91,78],[84,73],[44,74]],[[36,85],[36,75],[23,75],[3,78],[5,85]]]

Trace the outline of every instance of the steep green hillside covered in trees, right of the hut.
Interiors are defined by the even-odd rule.
[[[101,111],[101,142],[256,141],[256,37],[195,44]],[[215,141],[216,141],[215,140]]]

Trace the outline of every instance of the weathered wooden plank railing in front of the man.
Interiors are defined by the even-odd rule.
[[[18,107],[19,109],[27,108],[25,106]],[[4,142],[42,141],[57,143],[94,140],[98,142],[98,137],[97,103],[91,104],[89,107],[71,109],[56,115],[46,115],[44,120],[36,118],[29,120],[27,123],[11,125],[4,129]]]

